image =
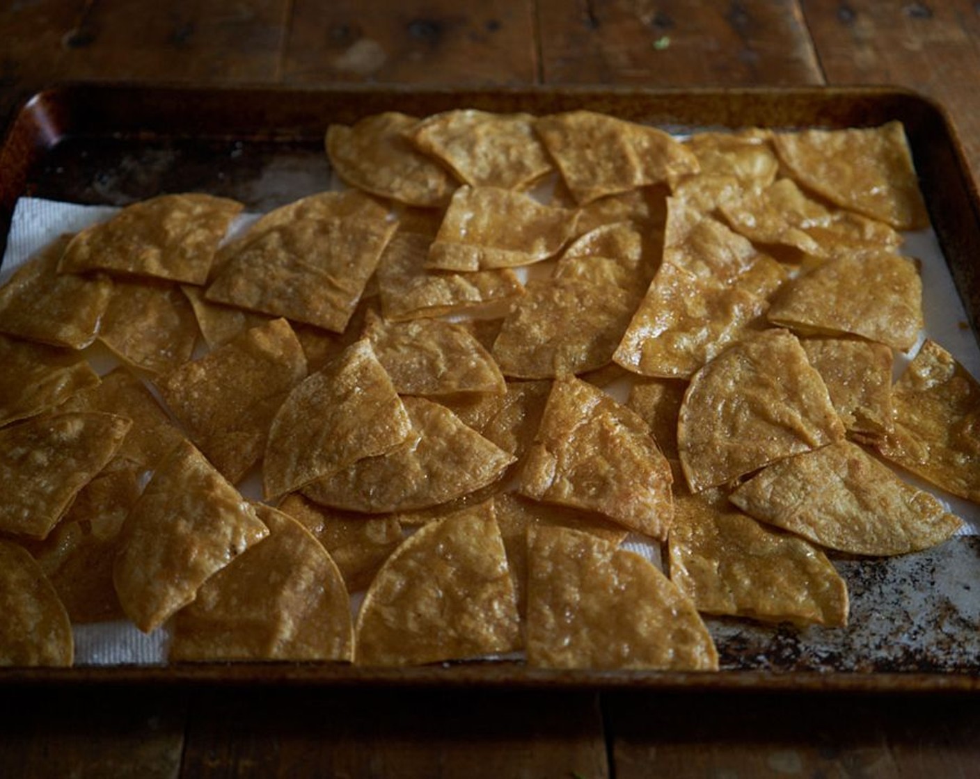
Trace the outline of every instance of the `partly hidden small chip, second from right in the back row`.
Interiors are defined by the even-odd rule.
[[[768,130],[696,132],[685,145],[698,158],[701,175],[730,175],[744,184],[767,186],[779,171]]]

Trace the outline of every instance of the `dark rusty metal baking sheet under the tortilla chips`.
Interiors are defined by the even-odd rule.
[[[28,194],[123,206],[202,191],[266,211],[325,188],[323,131],[378,111],[450,108],[543,114],[591,108],[680,131],[905,122],[930,214],[967,315],[980,322],[980,218],[955,134],[935,105],[876,88],[790,90],[185,89],[67,85],[30,101],[0,149],[0,229]],[[2,245],[0,245],[2,250]],[[980,686],[980,539],[892,559],[834,559],[847,580],[846,629],[709,618],[723,672],[547,672],[511,662],[390,670],[297,665],[118,669],[126,680],[301,681],[600,687],[973,690]],[[5,671],[0,679],[112,678],[114,669]],[[738,671],[738,673],[732,673]],[[727,672],[727,673],[726,673]],[[856,679],[858,680],[856,682]],[[798,680],[798,681],[797,681]]]

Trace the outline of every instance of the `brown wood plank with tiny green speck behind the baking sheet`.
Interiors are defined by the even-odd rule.
[[[539,15],[547,83],[821,82],[796,0],[540,0]]]

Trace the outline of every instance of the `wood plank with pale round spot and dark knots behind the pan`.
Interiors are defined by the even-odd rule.
[[[296,0],[288,83],[526,84],[537,77],[533,0]]]

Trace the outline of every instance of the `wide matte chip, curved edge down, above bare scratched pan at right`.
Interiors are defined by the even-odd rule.
[[[850,441],[773,463],[729,499],[757,519],[852,555],[905,555],[962,526],[932,495]]]

